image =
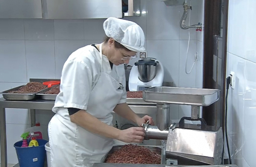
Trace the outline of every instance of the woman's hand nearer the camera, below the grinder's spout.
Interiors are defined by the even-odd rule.
[[[130,127],[129,129],[120,130],[118,140],[123,142],[142,142],[145,136],[143,127]]]

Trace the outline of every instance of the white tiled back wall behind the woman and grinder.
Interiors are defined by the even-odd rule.
[[[192,1],[190,24],[203,23],[203,0]],[[166,7],[164,2],[142,0],[141,17],[125,17],[138,23],[145,32],[145,47],[149,57],[158,58],[164,65],[165,82],[176,87],[202,87],[202,32],[180,28],[183,7]],[[57,78],[67,57],[76,49],[104,39],[102,23],[105,19],[39,20],[0,19],[0,91],[25,84],[31,77]],[[186,25],[189,24],[187,17]],[[187,67],[192,67],[198,52],[201,61],[196,61],[190,74],[185,73],[187,43],[190,45]],[[131,61],[131,64],[137,59]],[[190,108],[172,105],[170,117],[178,120],[190,115]],[[7,109],[8,163],[17,163],[13,144],[28,127],[27,109]],[[44,132],[53,113],[37,111]],[[47,134],[46,134],[47,135]],[[47,136],[46,136],[47,137]]]

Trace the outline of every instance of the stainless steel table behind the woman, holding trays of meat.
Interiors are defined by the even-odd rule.
[[[5,108],[29,109],[30,125],[36,125],[36,109],[51,111],[54,100],[10,101],[0,98],[0,134],[1,134],[1,167],[7,167],[7,140]],[[156,114],[157,106],[154,103],[143,102],[142,99],[127,99],[128,105],[136,114]]]

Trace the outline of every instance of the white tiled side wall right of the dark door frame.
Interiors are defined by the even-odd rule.
[[[226,76],[236,73],[236,87],[229,88],[227,128],[232,162],[239,167],[256,166],[255,5],[254,0],[229,1]]]

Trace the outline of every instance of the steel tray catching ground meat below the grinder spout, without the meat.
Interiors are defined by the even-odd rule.
[[[111,150],[105,154],[104,157],[101,159],[101,163],[105,163],[107,156],[109,154],[114,153],[114,151],[119,150],[123,145],[114,145]],[[154,151],[155,153],[158,153],[161,155],[161,164],[166,164],[166,152],[165,149],[162,146],[152,146],[152,145],[140,145],[142,147],[148,148],[151,151]]]

